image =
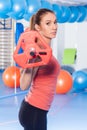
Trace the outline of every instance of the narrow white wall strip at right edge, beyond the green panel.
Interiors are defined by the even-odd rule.
[[[87,22],[78,24],[76,69],[87,68]]]

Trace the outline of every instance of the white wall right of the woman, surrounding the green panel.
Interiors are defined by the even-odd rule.
[[[87,22],[82,23],[64,23],[59,24],[59,30],[56,38],[57,59],[60,63],[64,48],[77,48],[77,60],[75,69],[87,68]],[[56,52],[55,52],[56,54]]]

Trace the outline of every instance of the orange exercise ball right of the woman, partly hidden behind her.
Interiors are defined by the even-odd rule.
[[[61,69],[57,79],[56,93],[66,94],[71,90],[72,84],[73,79],[70,73],[66,70]]]

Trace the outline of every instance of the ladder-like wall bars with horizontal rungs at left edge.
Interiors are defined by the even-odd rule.
[[[0,19],[0,70],[6,69],[14,64],[14,21]]]

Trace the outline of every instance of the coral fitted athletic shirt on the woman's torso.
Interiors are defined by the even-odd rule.
[[[47,65],[39,67],[25,101],[37,108],[49,110],[55,94],[59,71],[60,65],[52,56]]]

